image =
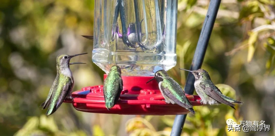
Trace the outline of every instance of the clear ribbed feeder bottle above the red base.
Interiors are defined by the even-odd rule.
[[[96,0],[93,62],[152,76],[176,65],[177,0]]]

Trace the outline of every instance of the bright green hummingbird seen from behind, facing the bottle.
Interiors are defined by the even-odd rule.
[[[108,110],[117,103],[122,90],[121,69],[119,66],[112,66],[103,84],[105,107]]]

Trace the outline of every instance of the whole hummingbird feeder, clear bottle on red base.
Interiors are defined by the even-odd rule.
[[[95,1],[92,60],[107,74],[113,65],[122,71],[123,90],[117,104],[105,107],[103,86],[72,93],[78,111],[127,115],[177,115],[189,111],[166,104],[158,83],[149,81],[158,70],[176,65],[177,0]],[[104,75],[104,79],[107,75]],[[187,95],[193,106],[197,95]]]

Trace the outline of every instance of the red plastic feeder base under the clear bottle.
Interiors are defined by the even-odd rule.
[[[104,75],[104,79],[107,75]],[[126,115],[177,115],[187,114],[189,111],[177,104],[166,104],[158,88],[158,83],[153,80],[147,84],[153,76],[122,76],[123,90],[117,104],[107,110],[103,96],[103,86],[88,86],[72,93],[75,97],[73,107],[78,111],[126,114]],[[202,105],[198,95],[188,95],[187,98],[193,106]]]

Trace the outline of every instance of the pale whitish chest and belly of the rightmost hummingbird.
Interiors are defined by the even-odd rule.
[[[195,90],[197,92],[197,94],[200,96],[200,98],[202,99],[200,101],[200,103],[202,104],[210,104],[210,105],[215,105],[218,104],[216,100],[214,100],[213,98],[209,97],[208,95],[206,95],[204,93],[204,89],[202,89],[202,87],[200,87],[200,80],[195,81],[194,86],[195,86]]]

